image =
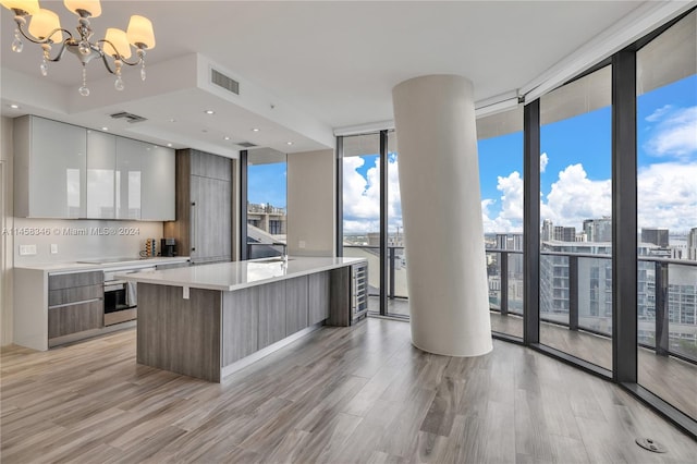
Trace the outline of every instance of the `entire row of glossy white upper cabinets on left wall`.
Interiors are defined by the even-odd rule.
[[[34,115],[13,138],[17,217],[175,219],[171,148]]]

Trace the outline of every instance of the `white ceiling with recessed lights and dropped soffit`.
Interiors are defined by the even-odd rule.
[[[73,29],[76,16],[62,3],[41,1]],[[137,70],[124,70],[124,93],[113,90],[101,64],[90,63],[86,98],[77,95],[74,57],[51,63],[44,78],[38,46],[10,51],[13,15],[2,9],[2,114],[34,112],[227,156],[235,156],[239,141],[286,152],[319,149],[333,145],[333,129],[391,120],[392,87],[409,77],[467,76],[477,100],[516,93],[643,3],[102,1],[102,15],[91,22],[96,38],[106,27],[125,28],[137,13],[152,20],[157,46],[147,53],[145,83]],[[182,63],[171,61],[182,54],[188,56]],[[196,81],[208,62],[241,82],[240,98]],[[23,108],[10,110],[10,102]],[[209,107],[215,117],[203,113]],[[148,121],[114,123],[108,115],[114,111]]]

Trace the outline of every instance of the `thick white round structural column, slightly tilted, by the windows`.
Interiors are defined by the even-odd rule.
[[[450,356],[492,350],[472,82],[392,89],[412,343]]]

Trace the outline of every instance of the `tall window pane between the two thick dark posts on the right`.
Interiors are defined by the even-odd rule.
[[[611,73],[601,68],[540,99],[540,343],[609,370]]]

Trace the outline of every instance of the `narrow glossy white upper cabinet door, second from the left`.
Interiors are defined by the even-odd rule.
[[[115,218],[117,137],[87,131],[87,217]]]

